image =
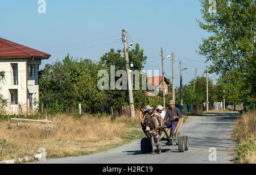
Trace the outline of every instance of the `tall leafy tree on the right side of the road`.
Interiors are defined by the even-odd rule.
[[[203,39],[199,53],[210,62],[209,72],[220,75],[218,84],[230,102],[255,105],[255,1],[218,0],[217,12],[200,0],[204,22],[199,26],[212,34]]]

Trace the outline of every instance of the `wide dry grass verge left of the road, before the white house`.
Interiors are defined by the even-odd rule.
[[[117,147],[143,136],[141,131],[128,131],[139,126],[139,119],[121,116],[73,118],[59,115],[51,119],[55,128],[16,127],[0,122],[0,160],[33,156],[39,147],[47,149],[48,158],[89,155]]]

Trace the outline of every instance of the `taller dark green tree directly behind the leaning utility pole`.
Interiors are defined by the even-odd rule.
[[[133,62],[133,70],[141,71],[144,68],[144,63],[146,62],[147,57],[144,56],[144,51],[139,47],[139,44],[135,44],[135,48],[129,51],[129,61]],[[105,53],[104,56],[101,57],[100,64],[102,68],[105,68],[109,71],[110,75],[110,66],[115,66],[115,72],[117,70],[125,70],[126,71],[126,61],[124,57],[124,53],[121,50],[115,51],[114,49],[110,49],[109,52]],[[109,77],[110,78],[110,77]],[[133,82],[135,84],[135,77],[133,77]],[[115,77],[115,81],[117,81],[119,77]],[[110,82],[110,79],[109,79]],[[133,84],[133,87],[134,87]],[[141,77],[140,77],[141,84]],[[108,97],[108,102],[106,106],[108,108],[113,107],[114,109],[122,109],[122,106],[129,105],[129,93],[128,90],[108,90],[105,91],[106,96]],[[144,106],[148,99],[146,97],[145,90],[133,90],[134,96],[134,105],[135,107]]]

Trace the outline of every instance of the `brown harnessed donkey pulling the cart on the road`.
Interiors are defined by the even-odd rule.
[[[152,145],[152,155],[155,155],[155,142],[154,139],[156,140],[156,147],[158,149],[158,154],[162,152],[161,150],[161,145],[160,145],[160,132],[161,132],[161,126],[163,125],[163,120],[161,116],[159,117],[158,115],[155,115],[155,110],[152,113],[146,113],[143,110],[143,118],[142,120],[142,127],[143,129],[148,132],[150,139],[151,139],[151,145]],[[158,113],[159,114],[159,113]]]

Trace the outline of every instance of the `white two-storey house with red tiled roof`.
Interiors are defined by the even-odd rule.
[[[34,109],[39,101],[39,65],[51,55],[24,45],[0,38],[0,71],[5,81],[0,94],[9,105],[25,105]]]

